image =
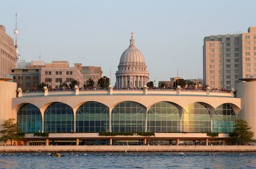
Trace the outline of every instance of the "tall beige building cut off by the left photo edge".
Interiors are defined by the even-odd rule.
[[[14,40],[5,32],[4,25],[0,25],[0,50],[0,76],[5,77],[15,68],[16,49]]]

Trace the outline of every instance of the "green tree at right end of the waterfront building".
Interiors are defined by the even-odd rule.
[[[232,142],[241,145],[251,142],[254,133],[251,132],[250,129],[251,127],[248,126],[248,123],[245,120],[236,120],[235,129],[229,134],[229,136],[232,137]]]

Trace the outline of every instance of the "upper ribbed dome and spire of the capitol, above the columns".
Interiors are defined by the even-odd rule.
[[[137,49],[135,46],[135,39],[133,39],[133,33],[130,39],[129,48],[123,52],[120,58],[119,66],[123,65],[146,65],[145,59],[141,51],[139,51],[139,49]]]

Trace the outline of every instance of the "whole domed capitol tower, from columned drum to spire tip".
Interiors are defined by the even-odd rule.
[[[121,55],[115,77],[117,88],[143,87],[148,83],[149,73],[146,70],[145,59],[135,46],[133,33],[129,48]]]

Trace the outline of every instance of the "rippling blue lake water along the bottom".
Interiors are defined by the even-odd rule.
[[[0,168],[256,168],[256,153],[68,152],[0,153]]]

